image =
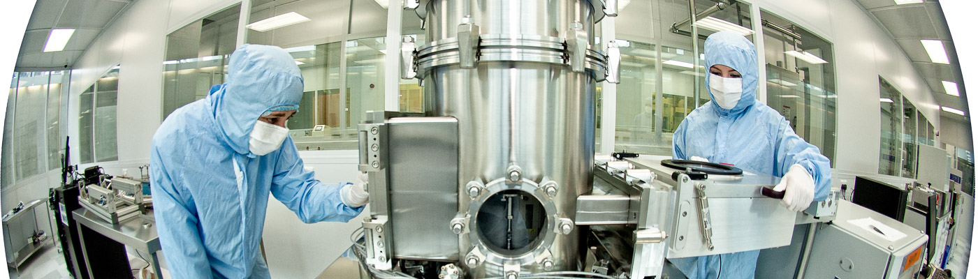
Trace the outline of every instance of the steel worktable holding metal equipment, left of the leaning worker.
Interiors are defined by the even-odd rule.
[[[159,246],[159,236],[156,234],[156,222],[152,218],[140,216],[140,218],[110,223],[84,208],[78,209],[71,214],[74,215],[74,220],[77,222],[79,231],[82,231],[81,227],[85,226],[122,245],[148,254],[156,277],[162,278],[162,267],[159,265],[159,256],[156,254],[162,248]],[[153,211],[147,213],[147,216],[152,215]],[[81,235],[81,241],[85,241],[84,234]],[[89,251],[85,250],[85,246],[82,246],[82,250],[87,265]],[[92,252],[97,253],[97,251]]]

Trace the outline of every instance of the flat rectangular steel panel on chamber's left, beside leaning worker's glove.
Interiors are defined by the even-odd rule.
[[[388,174],[394,256],[458,260],[459,126],[452,117],[392,118]]]

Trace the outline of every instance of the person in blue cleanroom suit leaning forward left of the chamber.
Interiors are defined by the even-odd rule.
[[[269,278],[258,250],[269,193],[307,223],[363,210],[362,177],[328,185],[303,169],[285,128],[302,87],[289,53],[244,45],[231,56],[226,84],[159,126],[153,205],[173,278]]]

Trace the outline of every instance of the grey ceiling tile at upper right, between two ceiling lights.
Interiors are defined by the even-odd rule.
[[[894,38],[939,39],[923,5],[902,5],[875,10],[870,14],[882,22]]]

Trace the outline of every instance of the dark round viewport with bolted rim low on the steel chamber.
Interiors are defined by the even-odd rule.
[[[489,197],[475,219],[486,246],[504,256],[529,252],[542,240],[547,213],[540,201],[520,190],[505,190]]]

